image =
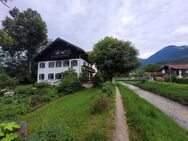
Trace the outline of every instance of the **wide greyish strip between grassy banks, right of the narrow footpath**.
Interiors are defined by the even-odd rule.
[[[161,111],[166,113],[172,119],[174,119],[177,123],[180,124],[181,127],[188,129],[188,107],[172,100],[169,100],[165,97],[161,97],[154,93],[142,90],[136,86],[125,84],[130,89],[135,91],[140,97],[146,99],[148,102],[159,108]]]

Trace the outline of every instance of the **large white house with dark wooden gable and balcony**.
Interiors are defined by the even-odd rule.
[[[73,68],[80,76],[83,72],[91,79],[95,70],[88,60],[88,54],[81,48],[57,38],[42,50],[34,61],[38,63],[37,82],[57,84],[63,73]]]

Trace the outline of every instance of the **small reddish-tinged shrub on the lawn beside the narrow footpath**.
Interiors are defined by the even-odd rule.
[[[92,108],[92,114],[95,115],[97,113],[102,113],[104,112],[109,105],[109,99],[104,96],[100,97],[99,99],[96,100],[93,108]]]

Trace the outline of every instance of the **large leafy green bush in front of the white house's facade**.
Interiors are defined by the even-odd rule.
[[[73,69],[64,72],[63,79],[59,86],[59,91],[70,94],[80,90],[81,81],[77,73]]]

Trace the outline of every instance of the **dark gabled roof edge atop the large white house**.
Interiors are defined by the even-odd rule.
[[[82,48],[80,48],[80,47],[78,47],[78,46],[76,46],[76,45],[74,45],[74,44],[72,44],[72,43],[70,43],[70,42],[68,42],[68,41],[65,41],[65,40],[63,40],[63,39],[61,39],[61,38],[57,38],[57,39],[55,39],[53,42],[51,42],[49,45],[47,45],[42,51],[40,51],[40,52],[33,58],[33,61],[38,60],[38,59],[40,58],[40,56],[44,55],[44,53],[45,53],[48,49],[50,49],[51,47],[53,47],[53,46],[54,46],[55,44],[57,44],[57,43],[59,43],[59,44],[61,44],[61,43],[66,44],[67,46],[71,47],[72,49],[77,50],[77,51],[79,51],[79,52],[82,52],[82,54],[85,54],[85,51],[84,51]]]

